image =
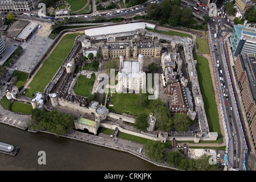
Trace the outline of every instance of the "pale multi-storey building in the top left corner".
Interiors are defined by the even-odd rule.
[[[39,0],[6,0],[0,1],[0,11],[31,11],[38,8],[38,5]]]

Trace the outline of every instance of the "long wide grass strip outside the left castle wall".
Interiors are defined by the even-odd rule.
[[[80,33],[67,34],[60,40],[59,44],[36,73],[30,85],[28,85],[30,89],[25,90],[25,96],[32,97],[32,94],[35,94],[35,92],[44,91],[48,82],[52,80],[52,77],[71,51],[75,38],[79,35]]]

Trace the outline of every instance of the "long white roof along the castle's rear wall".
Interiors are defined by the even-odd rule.
[[[85,30],[85,34],[88,36],[97,36],[97,35],[107,35],[107,34],[117,34],[119,32],[130,32],[135,31],[139,28],[146,28],[146,23],[129,23],[129,24],[118,24],[114,26],[90,28]]]

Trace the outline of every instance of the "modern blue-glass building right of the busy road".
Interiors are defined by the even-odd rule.
[[[229,40],[234,56],[241,53],[256,53],[256,28],[235,24]]]

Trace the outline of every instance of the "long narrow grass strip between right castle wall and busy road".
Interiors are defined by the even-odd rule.
[[[217,106],[213,94],[212,78],[210,77],[208,60],[205,57],[196,55],[195,49],[193,50],[193,57],[197,60],[196,71],[204,100],[204,109],[207,115],[209,130],[211,132],[217,132],[217,142],[221,142],[220,123],[218,121]]]

